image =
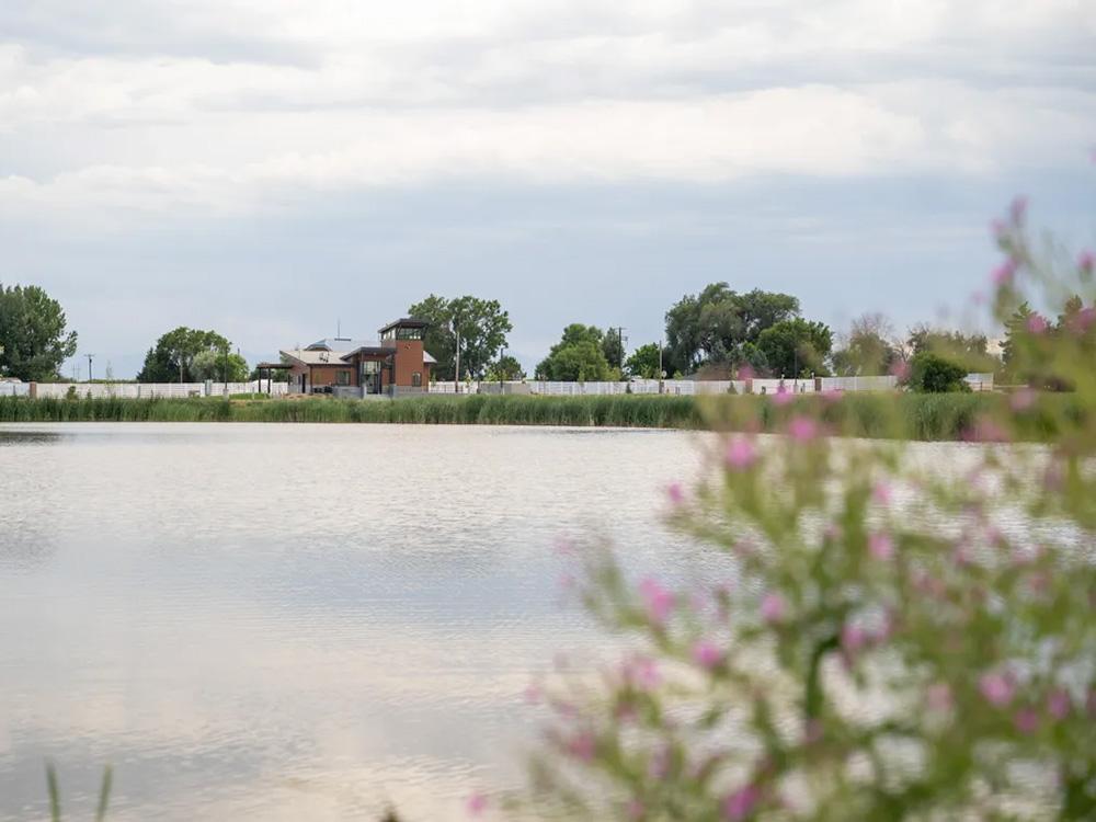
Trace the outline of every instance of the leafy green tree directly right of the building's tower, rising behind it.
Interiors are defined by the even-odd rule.
[[[514,330],[510,315],[502,310],[499,300],[468,295],[446,299],[431,294],[411,306],[408,313],[430,323],[423,345],[437,361],[434,375],[443,380],[468,374],[482,377],[488,365],[506,346],[506,334]],[[458,335],[460,375],[455,375]]]

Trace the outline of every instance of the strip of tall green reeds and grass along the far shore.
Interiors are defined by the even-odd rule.
[[[1049,439],[1080,414],[1069,395],[1042,398],[1026,439]],[[396,401],[307,399],[41,399],[0,398],[0,422],[373,422],[480,425],[581,425],[776,431],[797,409],[811,410],[848,436],[957,439],[1007,398],[992,393],[802,397],[777,407],[764,397],[418,397]]]

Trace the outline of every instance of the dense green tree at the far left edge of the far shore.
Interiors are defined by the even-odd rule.
[[[0,284],[0,376],[56,379],[76,354],[77,333],[66,333],[66,324],[60,304],[38,286]]]

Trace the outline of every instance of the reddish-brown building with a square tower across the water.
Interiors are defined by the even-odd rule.
[[[289,372],[289,392],[367,397],[425,391],[437,363],[423,349],[426,327],[403,318],[380,329],[378,340],[336,336],[278,352]]]

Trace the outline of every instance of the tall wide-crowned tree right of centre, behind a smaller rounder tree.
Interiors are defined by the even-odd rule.
[[[757,353],[765,329],[799,315],[789,294],[753,289],[739,294],[727,283],[712,283],[699,294],[686,294],[666,311],[669,369],[694,372],[705,364],[746,364]]]

